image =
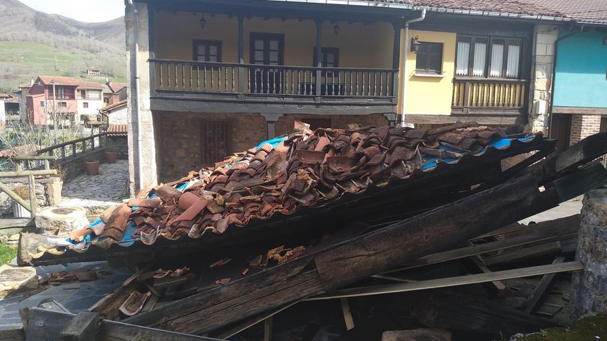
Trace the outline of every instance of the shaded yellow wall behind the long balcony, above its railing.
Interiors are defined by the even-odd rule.
[[[155,14],[156,57],[159,59],[192,60],[192,40],[221,41],[221,61],[237,63],[238,19],[227,15],[204,15],[206,26],[200,28],[200,14],[186,12],[157,12]],[[323,25],[322,45],[339,48],[339,66],[343,68],[392,68],[392,42],[394,30],[390,23],[338,22],[340,32],[333,32],[333,25]],[[316,45],[314,21],[296,19],[245,18],[244,61],[249,63],[250,32],[284,34],[284,64],[312,66],[312,54]]]

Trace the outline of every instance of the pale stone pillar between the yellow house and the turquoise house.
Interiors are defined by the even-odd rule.
[[[526,131],[546,134],[558,28],[555,25],[535,25],[533,37],[529,121]]]

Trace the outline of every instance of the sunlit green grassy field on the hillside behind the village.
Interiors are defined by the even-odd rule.
[[[94,63],[91,56],[57,50],[43,43],[0,41],[0,92],[14,91],[20,83],[29,83],[32,77],[41,74],[81,79],[83,70]],[[105,83],[103,76],[88,80]],[[112,81],[126,79],[118,77]]]

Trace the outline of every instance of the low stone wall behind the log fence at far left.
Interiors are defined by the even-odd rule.
[[[2,183],[8,188],[14,189],[18,186],[28,185],[27,178],[2,178]],[[41,178],[35,180],[35,191],[38,207],[42,206],[54,206],[59,204],[61,201],[61,187],[63,181],[57,176],[50,178]],[[26,202],[30,202],[29,199]],[[0,191],[0,218],[12,216],[12,204],[14,200],[10,198],[6,193]]]

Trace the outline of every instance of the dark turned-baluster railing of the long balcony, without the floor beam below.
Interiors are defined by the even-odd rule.
[[[157,94],[192,92],[392,101],[398,70],[153,59]],[[250,97],[250,96],[249,96]]]

